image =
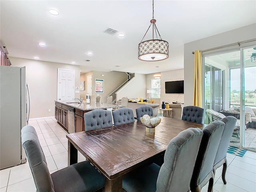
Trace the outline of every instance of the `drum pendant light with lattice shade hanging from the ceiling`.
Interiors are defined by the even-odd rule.
[[[142,42],[152,24],[153,39]],[[158,29],[156,28],[156,20],[154,19],[154,0],[153,15],[152,20],[150,20],[148,30],[146,31],[144,37],[138,45],[138,59],[142,61],[160,61],[167,59],[169,57],[169,43],[162,40],[162,37],[160,36]],[[156,39],[154,39],[154,32],[156,34]],[[157,33],[160,39],[158,39]]]

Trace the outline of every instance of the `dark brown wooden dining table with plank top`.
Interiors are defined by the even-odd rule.
[[[79,151],[105,177],[105,192],[121,192],[122,179],[163,156],[170,140],[182,130],[204,126],[161,117],[161,122],[153,133],[146,132],[146,126],[141,122],[132,122],[67,134],[68,165],[78,162]]]

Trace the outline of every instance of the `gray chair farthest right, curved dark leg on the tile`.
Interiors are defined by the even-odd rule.
[[[216,169],[223,165],[222,181],[224,184],[227,184],[226,171],[227,171],[228,162],[227,162],[226,155],[227,155],[228,146],[233,134],[233,130],[236,124],[236,118],[234,116],[227,116],[223,118],[221,121],[225,123],[225,128],[223,130],[223,133],[220,139],[220,144],[217,150],[217,154],[214,159],[213,173],[215,175]]]

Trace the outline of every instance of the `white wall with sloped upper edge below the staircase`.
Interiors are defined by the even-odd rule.
[[[120,100],[122,97],[146,98],[146,75],[136,73],[135,77],[118,91],[116,100]]]

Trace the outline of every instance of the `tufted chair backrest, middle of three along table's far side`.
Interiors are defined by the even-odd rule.
[[[134,122],[134,114],[131,108],[119,108],[112,112],[114,125],[122,125]]]

